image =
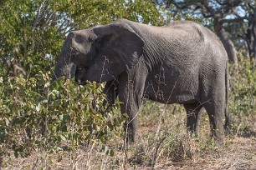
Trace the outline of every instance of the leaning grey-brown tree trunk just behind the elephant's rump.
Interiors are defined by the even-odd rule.
[[[214,18],[214,31],[217,33],[221,42],[223,42],[223,46],[228,53],[229,61],[232,61],[235,65],[238,65],[237,50],[234,47],[233,42],[229,39],[227,33],[225,32],[219,18]]]

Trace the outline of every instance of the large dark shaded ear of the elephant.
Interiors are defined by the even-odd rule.
[[[93,28],[97,56],[88,69],[89,81],[108,82],[136,65],[142,56],[141,37],[126,23]]]

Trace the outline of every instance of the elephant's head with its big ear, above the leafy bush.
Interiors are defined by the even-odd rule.
[[[69,32],[53,79],[75,77],[76,82],[108,82],[131,69],[142,56],[143,40],[125,23],[111,23]]]

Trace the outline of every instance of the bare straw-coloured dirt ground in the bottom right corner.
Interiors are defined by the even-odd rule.
[[[162,163],[156,169],[256,170],[256,138],[236,137],[228,148],[185,163]]]

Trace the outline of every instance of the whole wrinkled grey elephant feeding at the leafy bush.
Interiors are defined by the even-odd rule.
[[[187,128],[195,133],[205,107],[212,136],[223,143],[223,114],[228,117],[228,56],[209,29],[192,22],[153,27],[125,19],[70,32],[54,79],[107,82],[107,101],[119,97],[129,140],[136,141],[142,98],[180,103],[187,110]]]

